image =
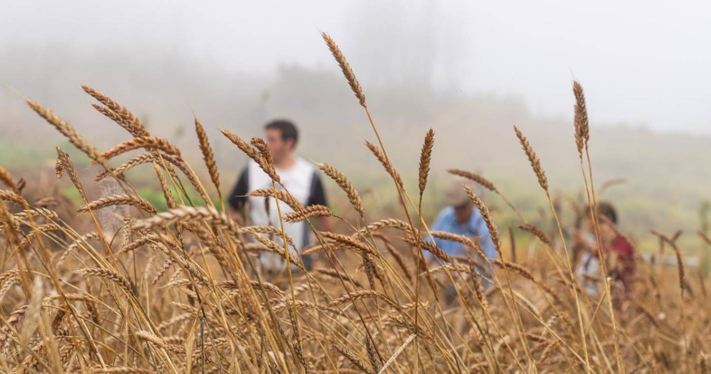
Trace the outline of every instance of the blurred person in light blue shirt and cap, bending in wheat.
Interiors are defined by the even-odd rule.
[[[464,191],[462,184],[469,185],[467,181],[459,179],[449,183],[447,190],[444,191],[444,201],[449,206],[440,210],[437,219],[429,226],[429,229],[448,231],[470,237],[475,241],[479,240],[484,255],[488,258],[495,258],[496,248],[493,246],[486,223],[479,209],[474,206]],[[434,243],[437,247],[442,248],[447,255],[462,256],[467,254],[466,248],[459,242],[435,238]],[[471,252],[469,253],[471,254]]]

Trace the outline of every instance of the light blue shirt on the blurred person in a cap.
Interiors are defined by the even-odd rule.
[[[466,237],[477,237],[484,255],[488,258],[496,258],[496,248],[493,245],[493,241],[491,241],[491,235],[488,233],[484,218],[476,207],[474,207],[466,223],[459,223],[454,214],[454,207],[448,206],[439,211],[437,219],[429,226],[429,230],[448,231],[449,233]],[[460,242],[435,237],[434,244],[442,248],[450,256],[466,254],[466,249]]]

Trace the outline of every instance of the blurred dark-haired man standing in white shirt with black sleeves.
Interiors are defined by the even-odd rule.
[[[304,159],[294,155],[296,141],[299,140],[299,132],[292,122],[278,119],[269,122],[264,126],[264,140],[267,141],[269,151],[274,156],[274,167],[281,178],[282,184],[292,193],[294,198],[304,206],[320,204],[327,205],[324,186],[321,184],[316,168]],[[240,178],[232,190],[229,198],[229,212],[232,217],[249,222],[250,225],[272,225],[280,228],[279,213],[274,198],[264,198],[260,196],[246,196],[249,191],[257,188],[272,188],[272,179],[264,173],[260,166],[253,160],[240,174]],[[277,188],[281,189],[277,183]],[[292,208],[285,203],[279,203],[282,215],[292,212]],[[331,230],[331,223],[327,217],[316,218],[316,227],[319,230]],[[284,230],[289,237],[294,240],[294,250],[309,245],[311,240],[311,228],[306,222],[286,223]],[[273,238],[281,243],[279,237]],[[265,269],[279,270],[284,267],[284,260],[272,252],[262,252],[260,255],[262,267]],[[310,258],[302,257],[304,265],[308,269],[311,266]]]

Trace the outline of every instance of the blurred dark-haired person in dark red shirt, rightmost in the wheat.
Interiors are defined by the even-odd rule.
[[[634,275],[634,247],[620,235],[616,229],[617,212],[610,203],[599,203],[597,205],[599,215],[600,242],[606,252],[611,266],[608,266],[609,275],[619,282],[625,293],[631,288],[631,280]],[[590,279],[599,279],[599,258],[597,256],[597,241],[592,234],[592,220],[589,215],[585,228],[578,230],[574,236],[574,245],[584,249],[580,257],[580,264],[577,269],[579,277],[582,277],[582,284],[591,294],[597,294],[597,287]]]

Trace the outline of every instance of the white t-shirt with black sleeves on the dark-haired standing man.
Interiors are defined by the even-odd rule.
[[[281,178],[282,183],[286,186],[289,193],[296,198],[299,203],[304,206],[321,204],[326,205],[326,195],[324,187],[321,185],[319,174],[316,173],[316,168],[300,157],[296,157],[296,161],[289,169],[277,169],[277,174]],[[272,178],[269,178],[267,173],[264,173],[259,165],[253,160],[250,160],[247,167],[242,171],[237,186],[230,195],[230,205],[232,208],[240,210],[245,203],[248,204],[248,217],[252,225],[272,225],[275,228],[280,228],[279,212],[273,197],[264,198],[262,196],[246,196],[247,192],[257,188],[272,188]],[[277,189],[282,189],[277,183]],[[279,202],[279,208],[282,210],[282,216],[293,212],[292,208],[286,203]],[[311,228],[306,222],[287,223],[284,222],[284,231],[289,237],[294,240],[296,250],[309,245],[311,240]],[[274,242],[282,243],[281,237],[272,238]],[[290,248],[292,254],[296,255],[294,248]],[[262,265],[265,267],[283,267],[283,259],[279,255],[269,252],[263,252],[260,256]]]

